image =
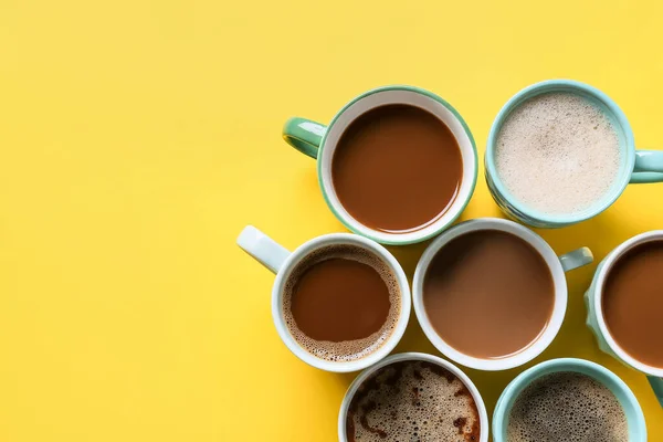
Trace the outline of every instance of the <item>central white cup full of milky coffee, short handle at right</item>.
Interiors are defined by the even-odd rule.
[[[451,360],[480,370],[518,367],[559,332],[565,272],[591,262],[589,249],[558,256],[513,221],[465,221],[438,236],[417,264],[414,312],[425,336]]]

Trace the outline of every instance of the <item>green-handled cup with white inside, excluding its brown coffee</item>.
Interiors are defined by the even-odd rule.
[[[332,179],[332,159],[344,131],[366,112],[390,104],[415,106],[433,114],[449,127],[461,149],[463,178],[455,200],[442,217],[415,231],[385,232],[364,225],[343,207]],[[382,244],[411,244],[435,236],[465,209],[476,185],[477,155],[470,128],[449,103],[419,87],[397,85],[365,92],[346,104],[326,126],[306,118],[291,118],[283,127],[283,138],[295,149],[317,160],[320,190],[336,218],[350,231]]]

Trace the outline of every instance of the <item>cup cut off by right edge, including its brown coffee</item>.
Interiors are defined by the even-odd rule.
[[[610,252],[585,304],[601,350],[648,375],[663,407],[663,230],[641,233]]]

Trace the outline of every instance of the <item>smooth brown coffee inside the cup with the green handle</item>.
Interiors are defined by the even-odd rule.
[[[453,203],[463,178],[451,130],[419,107],[387,105],[348,126],[332,160],[343,207],[360,223],[385,232],[415,231]]]

